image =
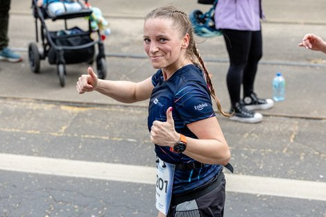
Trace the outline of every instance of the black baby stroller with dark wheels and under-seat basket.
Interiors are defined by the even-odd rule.
[[[79,1],[77,1],[80,3]],[[40,37],[42,39],[43,51],[39,52],[37,43],[31,42],[28,45],[28,59],[31,71],[40,73],[40,60],[48,58],[49,64],[57,65],[57,73],[60,80],[60,86],[65,87],[66,64],[75,64],[80,62],[94,62],[95,45],[98,44],[98,53],[96,55],[96,73],[98,78],[104,79],[106,76],[106,62],[103,40],[100,31],[97,30],[98,39],[91,38],[92,28],[91,21],[88,19],[88,30],[83,31],[75,26],[67,27],[67,19],[77,17],[89,17],[92,10],[80,3],[82,9],[78,11],[63,12],[59,15],[51,15],[46,8],[47,6],[37,6],[37,0],[32,0],[33,16],[35,17],[36,42],[39,42],[38,22],[40,19]],[[65,29],[60,31],[49,31],[46,27],[45,19],[52,21],[62,19],[65,22]]]

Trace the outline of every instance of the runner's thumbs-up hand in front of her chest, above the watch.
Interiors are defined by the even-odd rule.
[[[172,107],[169,107],[166,110],[166,122],[153,121],[151,141],[160,146],[173,146],[179,139],[180,134],[174,128]]]

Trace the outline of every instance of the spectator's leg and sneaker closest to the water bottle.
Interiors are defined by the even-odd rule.
[[[258,62],[262,56],[261,31],[253,31],[248,63],[243,71],[243,102],[248,110],[267,110],[273,107],[273,100],[258,98],[255,94],[254,83]]]

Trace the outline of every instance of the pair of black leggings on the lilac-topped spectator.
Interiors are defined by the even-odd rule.
[[[223,29],[223,37],[230,58],[230,67],[226,78],[232,105],[243,96],[254,92],[257,64],[262,56],[261,31],[237,31]]]

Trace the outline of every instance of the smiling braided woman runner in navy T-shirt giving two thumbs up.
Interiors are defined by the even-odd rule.
[[[144,50],[153,76],[138,83],[101,80],[89,68],[78,79],[80,94],[97,91],[123,103],[150,99],[148,130],[157,155],[158,216],[223,216],[230,150],[216,119],[221,109],[194,42],[188,15],[156,8],[144,22]]]

